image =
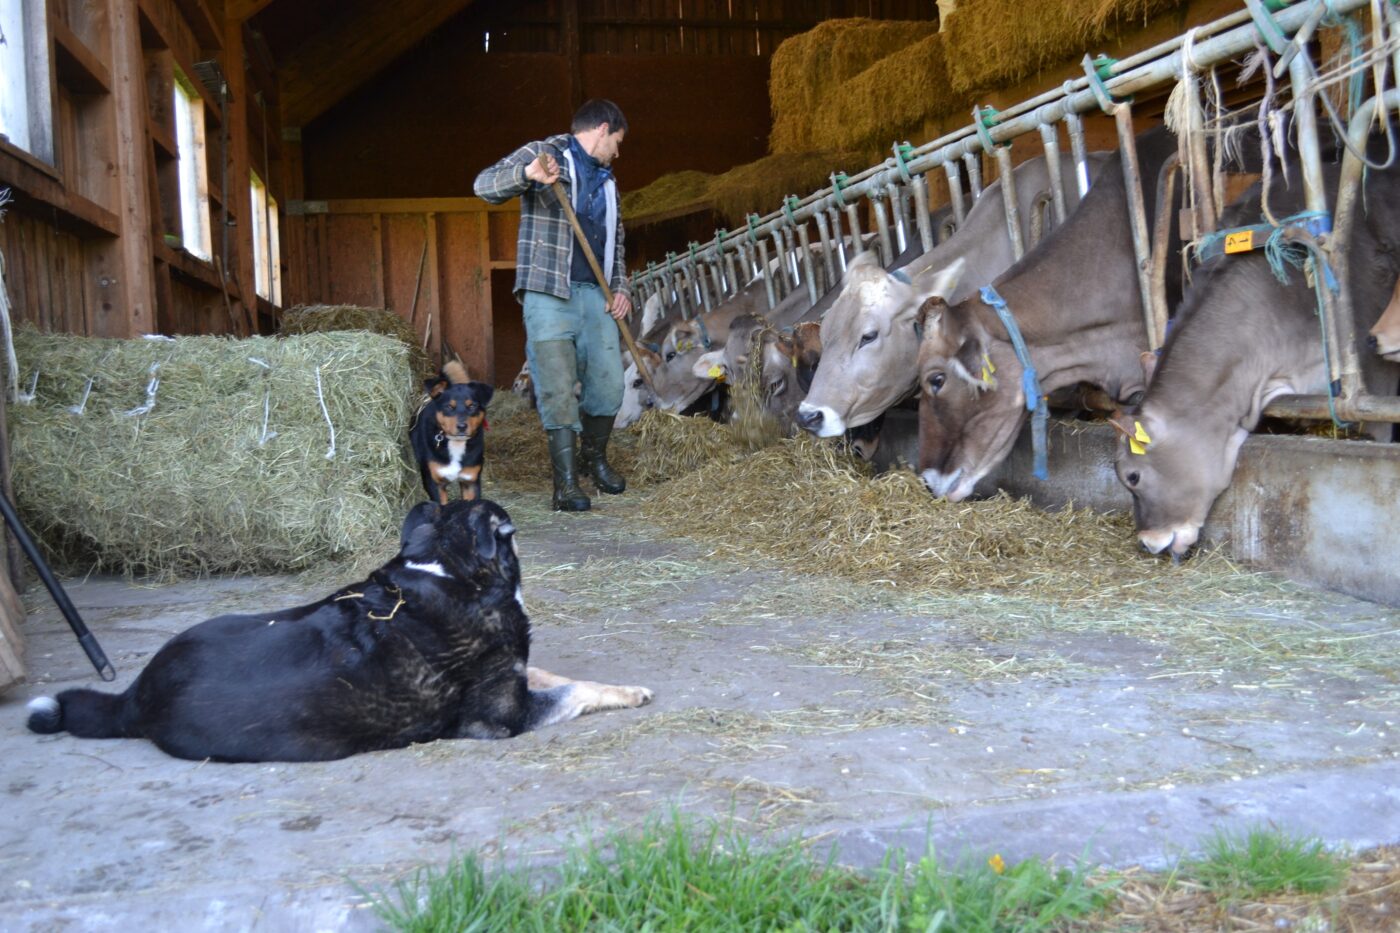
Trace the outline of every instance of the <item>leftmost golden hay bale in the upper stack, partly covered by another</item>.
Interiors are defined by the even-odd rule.
[[[833,102],[843,81],[937,31],[937,21],[850,18],[826,20],[785,39],[773,53],[769,71],[769,151],[811,151],[813,116]]]

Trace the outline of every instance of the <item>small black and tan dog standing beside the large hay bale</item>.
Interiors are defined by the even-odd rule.
[[[428,403],[413,424],[413,454],[428,499],[440,506],[448,488],[458,483],[462,499],[482,497],[482,465],[486,462],[486,406],[496,389],[473,382],[466,367],[451,360],[423,388]]]

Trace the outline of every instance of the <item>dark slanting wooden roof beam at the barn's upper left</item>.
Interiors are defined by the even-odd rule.
[[[286,126],[305,126],[384,70],[472,0],[353,0],[277,70]]]

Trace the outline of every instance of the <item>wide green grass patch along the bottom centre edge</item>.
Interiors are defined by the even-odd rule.
[[[396,930],[1043,930],[1110,898],[1081,870],[1029,860],[949,870],[932,855],[893,856],[872,873],[815,855],[801,841],[749,842],[731,828],[682,817],[636,835],[574,848],[538,883],[487,871],[473,856],[420,871],[375,897]],[[998,869],[1002,869],[998,871]]]

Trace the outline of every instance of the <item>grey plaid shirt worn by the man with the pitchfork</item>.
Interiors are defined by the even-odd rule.
[[[525,167],[542,151],[549,151],[559,163],[559,181],[573,196],[574,179],[568,175],[568,133],[550,136],[538,143],[526,143],[518,150],[483,170],[476,177],[476,196],[493,205],[503,205],[519,195],[521,230],[515,245],[515,297],[522,291],[543,291],[556,298],[568,300],[568,266],[574,256],[574,230],[564,217],[564,210],[554,198],[550,185],[540,185],[525,178]],[[620,202],[620,198],[619,198]],[[608,272],[613,293],[627,291],[627,266],[623,261],[622,212],[619,203],[617,235],[613,252],[613,268]],[[598,256],[598,265],[603,258]]]

